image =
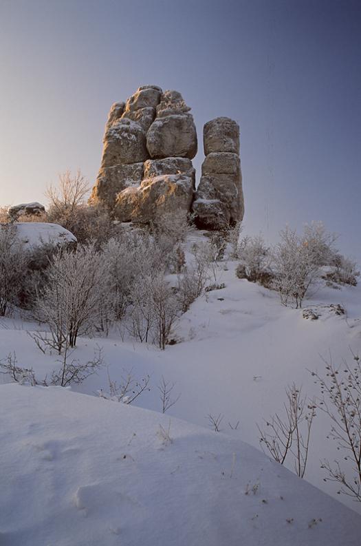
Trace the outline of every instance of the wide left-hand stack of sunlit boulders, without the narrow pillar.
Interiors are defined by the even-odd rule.
[[[162,213],[190,211],[197,133],[189,110],[181,94],[155,85],[113,105],[91,202],[122,222],[148,223]]]

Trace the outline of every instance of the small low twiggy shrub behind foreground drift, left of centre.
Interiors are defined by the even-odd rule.
[[[151,390],[149,388],[149,381],[151,380],[149,375],[146,375],[146,377],[142,377],[142,379],[138,380],[133,377],[132,370],[124,370],[124,374],[125,375],[122,375],[121,377],[120,383],[113,381],[109,375],[108,368],[107,376],[109,392],[105,392],[101,389],[98,390],[98,395],[107,400],[131,404],[135,399],[140,397],[143,392]]]

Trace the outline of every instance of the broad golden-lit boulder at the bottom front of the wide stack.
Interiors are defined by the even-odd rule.
[[[146,178],[140,187],[124,189],[116,200],[115,216],[120,222],[148,224],[164,213],[190,211],[194,180],[183,174]]]

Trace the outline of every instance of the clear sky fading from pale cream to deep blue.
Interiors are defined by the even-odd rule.
[[[0,0],[0,204],[94,183],[111,103],[176,89],[241,126],[245,227],[323,220],[361,257],[359,0]]]

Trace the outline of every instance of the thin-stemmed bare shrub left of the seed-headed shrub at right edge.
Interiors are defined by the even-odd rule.
[[[311,426],[315,417],[314,401],[307,401],[295,384],[286,388],[287,402],[285,414],[275,414],[265,420],[269,432],[257,426],[260,433],[261,447],[269,452],[274,461],[283,465],[291,454],[294,459],[294,470],[300,478],[305,475],[309,452]]]

